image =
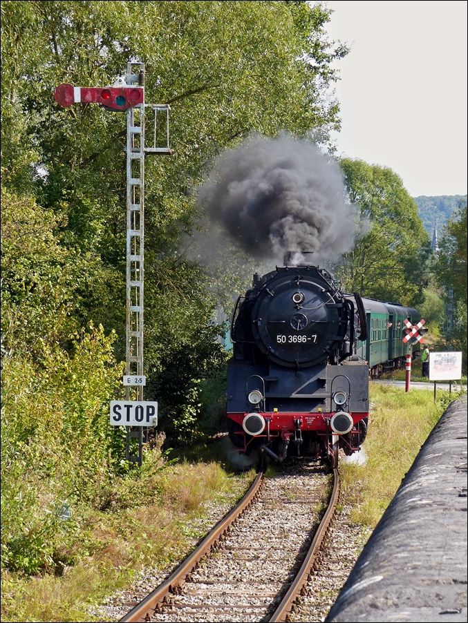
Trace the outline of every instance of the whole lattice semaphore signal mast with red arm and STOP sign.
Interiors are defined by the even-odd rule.
[[[142,464],[142,445],[147,441],[149,425],[157,421],[158,403],[143,402],[146,377],[143,370],[143,295],[144,295],[144,158],[146,155],[171,154],[169,148],[169,104],[144,103],[144,63],[129,61],[127,75],[112,87],[77,87],[60,84],[55,89],[60,106],[77,102],[95,102],[111,111],[127,111],[127,329],[125,339],[127,400],[112,401],[111,424],[127,428],[125,456]],[[162,128],[165,145],[158,146],[161,131],[157,115],[165,115]],[[153,114],[153,145],[144,136],[145,117]],[[125,404],[127,403],[127,404]],[[144,416],[144,413],[151,414]],[[156,414],[156,415],[153,415]],[[131,444],[138,441],[138,454]]]

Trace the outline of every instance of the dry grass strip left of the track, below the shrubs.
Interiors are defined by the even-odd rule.
[[[155,454],[153,450],[152,454]],[[150,467],[149,467],[150,466]],[[233,477],[220,463],[165,465],[151,457],[115,481],[103,504],[79,509],[81,524],[64,544],[77,562],[63,575],[2,572],[2,621],[93,621],[90,605],[131,584],[145,566],[170,568],[207,533],[207,506],[234,506],[254,470]]]

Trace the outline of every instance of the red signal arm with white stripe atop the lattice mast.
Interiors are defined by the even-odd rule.
[[[144,101],[142,87],[87,87],[59,84],[55,89],[54,99],[60,106],[71,106],[78,102],[95,102],[113,111],[127,111]]]

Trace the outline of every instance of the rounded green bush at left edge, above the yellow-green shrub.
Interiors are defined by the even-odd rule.
[[[63,215],[28,196],[1,190],[2,352],[39,352],[42,343],[68,344],[71,332],[92,320],[122,315],[110,307],[124,293],[122,276],[100,258],[61,244]]]

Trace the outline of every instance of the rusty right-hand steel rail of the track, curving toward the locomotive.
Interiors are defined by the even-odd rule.
[[[339,475],[336,468],[333,470],[333,475],[335,478],[328,508],[320,522],[319,527],[317,528],[317,532],[315,533],[314,539],[310,544],[310,548],[308,550],[306,558],[304,559],[304,562],[302,563],[301,568],[297,573],[297,576],[294,578],[291,586],[288,588],[288,592],[283,597],[283,600],[281,600],[281,603],[270,617],[270,623],[289,620],[289,615],[292,612],[292,608],[294,607],[294,601],[297,599],[297,597],[299,597],[303,586],[306,584],[306,582],[308,582],[308,579],[310,579],[309,573],[310,571],[312,571],[312,567],[315,563],[315,558],[319,553],[320,546],[322,544],[322,541],[324,540],[326,531],[328,529],[328,526],[330,525],[330,521],[333,519],[333,515],[335,514],[335,508],[338,502]]]

